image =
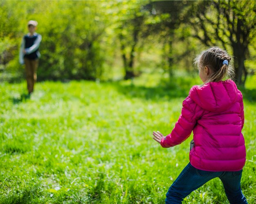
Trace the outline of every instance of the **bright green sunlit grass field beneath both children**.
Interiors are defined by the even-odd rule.
[[[247,161],[242,189],[256,202],[256,77],[243,89]],[[0,204],[164,203],[189,162],[189,143],[164,149],[152,132],[171,132],[198,77],[166,83],[0,83]],[[227,204],[219,179],[184,203]]]

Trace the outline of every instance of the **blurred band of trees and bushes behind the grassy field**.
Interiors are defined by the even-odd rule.
[[[256,1],[3,1],[0,80],[19,82],[27,22],[42,35],[38,81],[133,79],[161,72],[197,75],[193,58],[207,46],[234,57],[236,83],[256,70]]]

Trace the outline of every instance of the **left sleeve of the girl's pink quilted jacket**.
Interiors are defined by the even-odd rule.
[[[179,145],[184,140],[186,140],[190,135],[197,121],[195,116],[196,104],[187,97],[182,103],[182,111],[180,117],[175,124],[171,134],[162,138],[162,147],[173,147]]]

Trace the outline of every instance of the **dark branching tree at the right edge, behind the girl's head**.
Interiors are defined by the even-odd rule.
[[[191,18],[192,15],[192,18]],[[186,19],[193,26],[193,36],[207,46],[221,45],[233,51],[235,78],[238,85],[245,85],[250,42],[255,37],[256,2],[200,1],[192,4]]]

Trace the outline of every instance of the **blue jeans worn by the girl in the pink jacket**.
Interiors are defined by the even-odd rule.
[[[242,171],[202,171],[190,163],[182,170],[166,193],[166,204],[181,204],[192,191],[213,178],[220,178],[231,204],[248,204],[240,187]]]

